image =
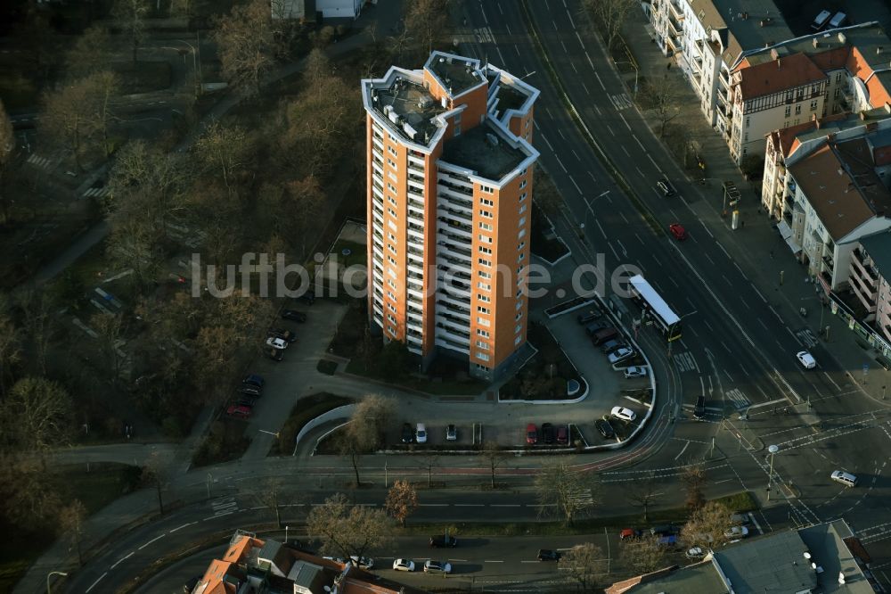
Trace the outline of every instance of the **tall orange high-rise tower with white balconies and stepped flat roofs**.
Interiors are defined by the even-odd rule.
[[[362,92],[372,327],[422,366],[453,354],[493,379],[526,342],[538,91],[434,52]]]

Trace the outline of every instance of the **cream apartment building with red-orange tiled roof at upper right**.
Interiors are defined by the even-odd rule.
[[[891,101],[886,45],[891,40],[873,22],[745,52],[732,67],[724,135],[734,161],[764,154],[773,130],[884,107]]]

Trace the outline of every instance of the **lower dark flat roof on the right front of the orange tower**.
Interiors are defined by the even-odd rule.
[[[493,142],[493,140],[495,142]],[[442,159],[448,163],[475,170],[478,175],[498,181],[515,169],[527,153],[513,148],[486,120],[475,128],[446,141]]]

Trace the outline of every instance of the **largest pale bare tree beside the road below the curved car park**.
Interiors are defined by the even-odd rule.
[[[571,458],[553,458],[535,474],[539,514],[559,515],[567,525],[600,499],[593,473],[573,470],[571,462]]]

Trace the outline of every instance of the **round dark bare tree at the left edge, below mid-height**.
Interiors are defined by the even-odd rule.
[[[71,437],[74,409],[61,384],[25,377],[12,385],[4,401],[4,436],[17,450],[41,456]]]

